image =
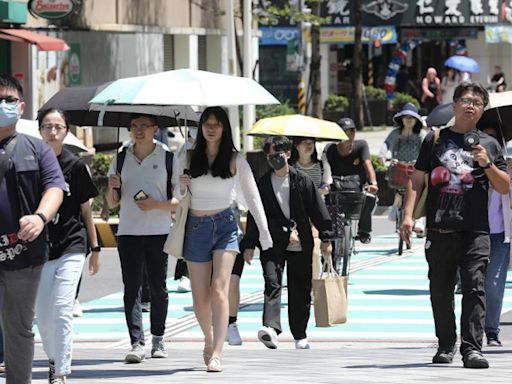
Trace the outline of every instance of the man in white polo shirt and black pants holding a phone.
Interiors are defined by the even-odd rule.
[[[140,363],[145,359],[141,307],[145,268],[151,292],[151,357],[167,357],[163,335],[169,300],[168,256],[163,247],[171,227],[171,199],[166,169],[168,151],[154,140],[158,131],[155,117],[133,114],[129,130],[130,145],[110,165],[106,198],[110,207],[121,205],[117,248],[124,283],[124,311],[132,344],[125,361]],[[121,159],[119,167],[117,162],[121,163]]]

